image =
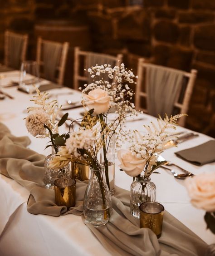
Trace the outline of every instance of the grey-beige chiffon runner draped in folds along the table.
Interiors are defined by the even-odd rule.
[[[29,143],[28,137],[17,138],[0,123],[0,172],[29,191],[28,212],[55,217],[75,214],[83,218],[83,195],[87,183],[77,181],[75,207],[67,211],[66,207],[57,206],[54,190],[44,188],[44,156],[26,148]],[[87,224],[112,255],[205,255],[207,244],[168,212],[164,214],[159,240],[151,230],[139,228],[139,221],[130,215],[129,193],[116,187],[116,194],[112,197],[112,217],[106,226],[95,228]]]

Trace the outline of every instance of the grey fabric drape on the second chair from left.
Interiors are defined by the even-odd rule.
[[[61,52],[62,44],[43,42],[42,54],[45,79],[56,82],[55,73],[57,72],[57,67],[59,66]]]

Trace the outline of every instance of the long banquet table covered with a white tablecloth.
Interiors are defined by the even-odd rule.
[[[3,73],[2,73],[3,74]],[[16,76],[18,73],[5,72]],[[14,99],[5,98],[0,101],[0,122],[4,123],[15,136],[29,136],[30,149],[49,155],[49,148],[45,149],[48,139],[34,138],[25,128],[24,118],[26,109],[32,106],[32,95],[20,92],[17,87],[3,88]],[[77,102],[81,98],[78,91],[70,88],[51,89],[50,98],[58,99],[63,107],[67,100]],[[80,118],[82,108],[65,110],[71,118]],[[156,121],[156,118],[141,114],[134,120],[127,120],[126,127],[143,130],[144,124]],[[76,126],[78,128],[78,126]],[[67,131],[64,125],[61,131]],[[177,127],[176,132],[190,130]],[[198,133],[199,136],[178,144],[177,148],[166,149],[161,155],[171,162],[178,164],[195,175],[215,172],[215,162],[201,167],[176,157],[174,152],[191,148],[205,143],[213,138]],[[126,190],[130,189],[132,177],[119,171],[116,158],[115,184]],[[205,211],[193,207],[186,191],[184,180],[173,177],[171,172],[159,169],[160,174],[153,174],[151,180],[156,184],[156,201],[160,202],[180,222],[187,226],[207,244],[215,243],[215,235],[208,229],[204,221]],[[73,214],[60,217],[48,215],[33,215],[27,212],[26,204],[29,192],[13,179],[0,175],[0,255],[2,256],[57,256],[67,255],[111,255],[84,224],[83,219]]]

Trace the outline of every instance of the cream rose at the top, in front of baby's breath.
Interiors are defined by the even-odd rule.
[[[86,98],[85,104],[89,109],[94,108],[94,114],[101,114],[108,111],[110,107],[110,96],[108,92],[97,88],[84,95]]]

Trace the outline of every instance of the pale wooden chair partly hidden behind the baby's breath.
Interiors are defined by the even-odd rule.
[[[93,82],[90,74],[84,69],[91,68],[92,66],[110,64],[112,67],[119,66],[122,63],[122,54],[112,56],[108,54],[94,53],[88,51],[82,51],[79,47],[74,48],[74,81],[73,89],[78,90],[81,86],[81,82],[89,84]],[[106,74],[103,75],[103,79],[108,79]]]

